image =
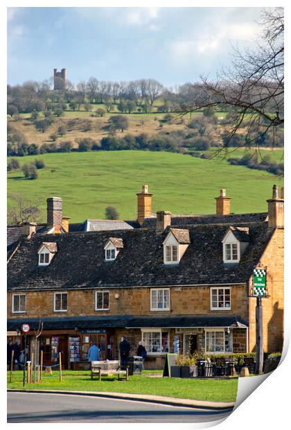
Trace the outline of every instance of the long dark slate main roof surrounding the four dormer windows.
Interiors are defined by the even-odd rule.
[[[236,225],[236,227],[244,227]],[[35,234],[21,239],[8,264],[8,291],[245,283],[267,246],[274,229],[249,223],[249,245],[239,264],[223,264],[222,238],[230,225],[184,225],[191,243],[178,265],[163,260],[169,228],[71,234]],[[123,240],[114,261],[105,261],[109,236]],[[54,241],[58,253],[48,266],[38,266],[40,244]]]

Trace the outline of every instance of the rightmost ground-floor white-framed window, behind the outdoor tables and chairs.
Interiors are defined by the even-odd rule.
[[[205,330],[205,352],[223,354],[232,352],[232,332],[225,329]]]

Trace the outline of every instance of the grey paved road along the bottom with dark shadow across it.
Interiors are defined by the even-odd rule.
[[[8,422],[204,422],[229,413],[78,395],[8,393]]]

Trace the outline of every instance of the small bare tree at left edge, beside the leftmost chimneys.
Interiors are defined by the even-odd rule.
[[[21,194],[12,194],[10,200],[12,200],[13,203],[11,206],[8,206],[8,224],[39,221],[42,212],[38,204],[24,198]]]

